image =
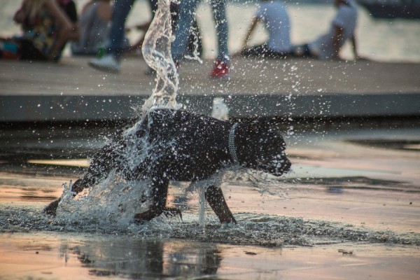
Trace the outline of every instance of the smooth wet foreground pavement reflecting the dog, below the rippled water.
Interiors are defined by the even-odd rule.
[[[419,248],[374,244],[265,248],[51,233],[0,239],[0,279],[416,279],[419,260]]]

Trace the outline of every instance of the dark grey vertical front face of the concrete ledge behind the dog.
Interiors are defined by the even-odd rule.
[[[211,114],[215,97],[183,95],[185,109]],[[147,96],[0,96],[1,122],[125,120],[134,116]],[[390,117],[420,116],[420,94],[241,94],[223,97],[232,118]]]

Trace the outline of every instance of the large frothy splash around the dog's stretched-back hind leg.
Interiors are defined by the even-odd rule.
[[[116,174],[76,195],[71,183],[64,184],[57,208],[57,223],[95,225],[99,228],[126,228],[134,214],[151,204],[148,181],[125,181]]]

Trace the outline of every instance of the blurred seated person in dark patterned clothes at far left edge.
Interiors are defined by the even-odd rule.
[[[0,58],[58,61],[78,32],[55,0],[24,0],[13,20],[22,36],[0,39]]]

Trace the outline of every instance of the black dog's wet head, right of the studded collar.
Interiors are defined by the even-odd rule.
[[[246,167],[274,176],[281,176],[290,170],[291,162],[286,156],[286,143],[278,132],[269,127],[254,125],[248,132],[242,151]]]

